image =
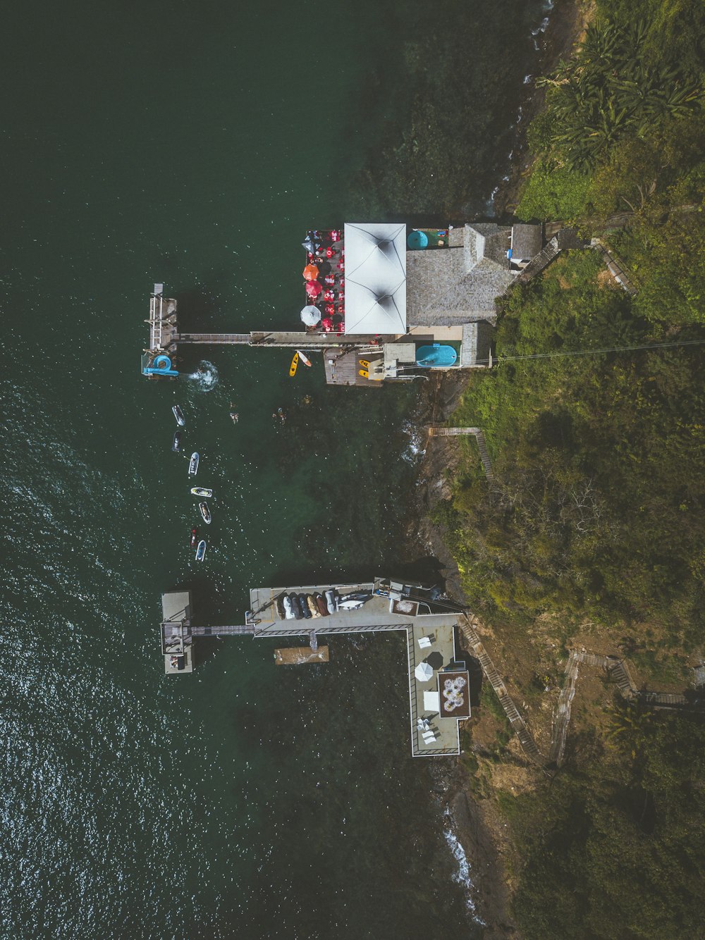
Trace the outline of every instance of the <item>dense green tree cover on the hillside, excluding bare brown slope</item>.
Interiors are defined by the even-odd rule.
[[[587,248],[502,301],[496,368],[452,417],[485,431],[493,485],[469,442],[436,518],[496,635],[553,614],[569,644],[589,620],[658,687],[703,652],[705,5],[599,0],[541,84],[517,215],[599,237],[636,292]],[[617,698],[550,780],[494,793],[527,938],[703,935],[699,715]]]

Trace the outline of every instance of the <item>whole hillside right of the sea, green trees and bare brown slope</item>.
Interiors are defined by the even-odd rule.
[[[599,250],[512,290],[498,367],[419,408],[487,438],[491,487],[474,438],[429,440],[418,534],[545,759],[483,683],[435,772],[488,938],[698,935],[704,33],[669,0],[556,5],[495,205]]]

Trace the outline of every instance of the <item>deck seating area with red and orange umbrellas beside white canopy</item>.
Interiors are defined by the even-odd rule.
[[[301,320],[307,333],[345,332],[345,245],[339,228],[311,230],[302,246],[306,305]]]

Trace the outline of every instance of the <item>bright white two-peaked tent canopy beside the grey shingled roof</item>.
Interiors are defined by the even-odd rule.
[[[406,333],[406,226],[345,223],[346,334]]]

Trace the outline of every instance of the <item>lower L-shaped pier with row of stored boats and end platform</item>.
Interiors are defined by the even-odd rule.
[[[340,609],[328,617],[279,618],[276,602],[285,594],[325,596],[326,590],[331,589],[337,590],[341,597],[360,594],[368,596],[368,600],[357,609]],[[434,598],[431,593],[419,585],[381,577],[353,584],[253,587],[250,590],[250,609],[243,624],[204,627],[190,622],[190,594],[175,591],[165,594],[162,601],[164,660],[171,663],[171,656],[175,655],[173,650],[180,646],[189,651],[193,668],[193,642],[198,636],[249,635],[258,639],[306,636],[309,639],[307,656],[318,650],[319,635],[402,631],[406,636],[409,671],[412,755],[443,757],[460,754],[459,722],[470,717],[470,677],[464,663],[456,658],[456,628],[462,608]],[[188,603],[183,601],[186,596]],[[172,600],[167,603],[167,598]],[[167,609],[174,612],[169,618],[165,616]],[[289,654],[288,650],[280,652]],[[184,665],[171,671],[191,669],[187,670]]]

